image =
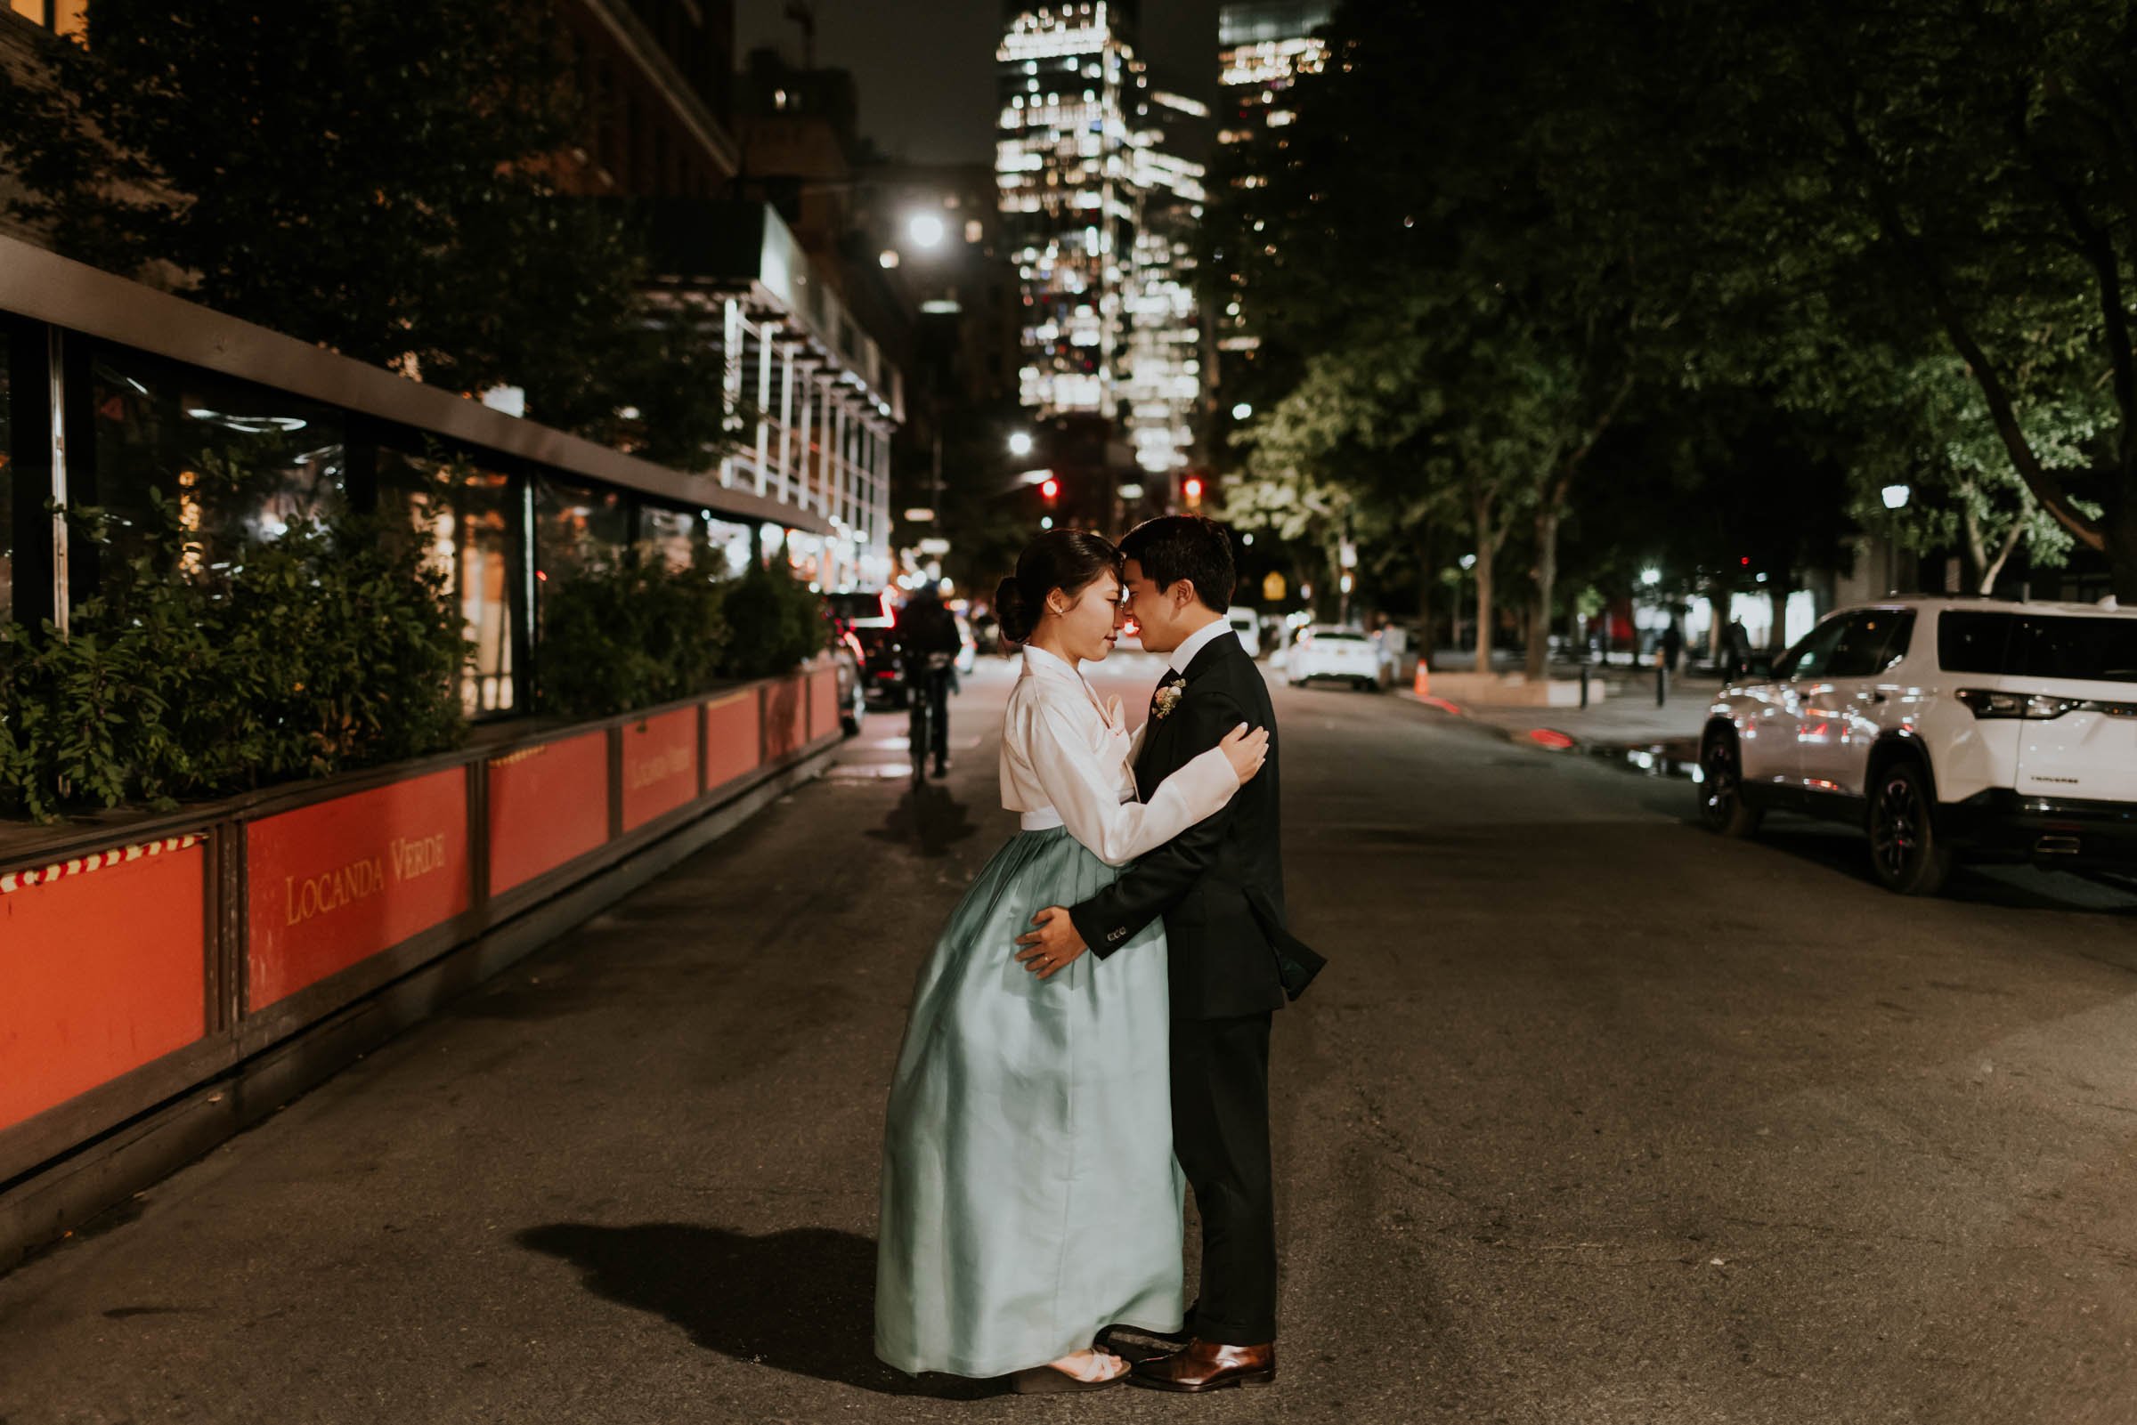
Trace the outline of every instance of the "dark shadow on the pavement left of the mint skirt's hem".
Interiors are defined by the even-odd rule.
[[[876,1359],[876,1243],[804,1226],[750,1237],[716,1226],[551,1222],[519,1246],[579,1269],[586,1288],[656,1312],[707,1350],[880,1395],[979,1399],[989,1380],[906,1376]]]

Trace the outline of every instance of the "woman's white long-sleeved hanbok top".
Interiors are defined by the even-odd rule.
[[[1002,714],[1002,805],[1021,812],[1026,831],[1066,827],[1107,865],[1126,865],[1239,790],[1222,748],[1210,748],[1137,801],[1130,746],[1120,699],[1101,705],[1068,662],[1024,645]]]

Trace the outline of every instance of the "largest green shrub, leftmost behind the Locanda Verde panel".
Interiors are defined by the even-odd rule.
[[[94,511],[77,526],[109,547]],[[175,511],[154,526],[66,639],[0,628],[0,810],[169,808],[466,735],[468,645],[427,530],[297,519],[194,568]]]

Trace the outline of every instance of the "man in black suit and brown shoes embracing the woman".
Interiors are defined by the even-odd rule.
[[[1269,1171],[1269,1013],[1321,957],[1284,929],[1276,714],[1254,660],[1225,624],[1231,532],[1165,515],[1120,541],[1143,647],[1171,656],[1150,701],[1135,784],[1167,776],[1244,724],[1269,758],[1216,816],[1150,852],[1081,906],[1049,906],[1019,936],[1034,974],[1086,949],[1101,959],[1156,917],[1171,957],[1173,1154],[1203,1222],[1201,1299],[1186,1348],[1135,1367],[1135,1384],[1214,1391],[1276,1380],[1276,1196]]]

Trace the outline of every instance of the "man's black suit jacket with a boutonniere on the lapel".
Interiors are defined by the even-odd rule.
[[[1173,1019],[1280,1008],[1323,964],[1284,925],[1276,709],[1261,669],[1235,635],[1222,632],[1195,654],[1171,714],[1152,711],[1135,756],[1135,786],[1148,799],[1242,722],[1269,729],[1269,756],[1254,780],[1222,812],[1195,823],[1068,910],[1083,944],[1101,957],[1165,917]]]

